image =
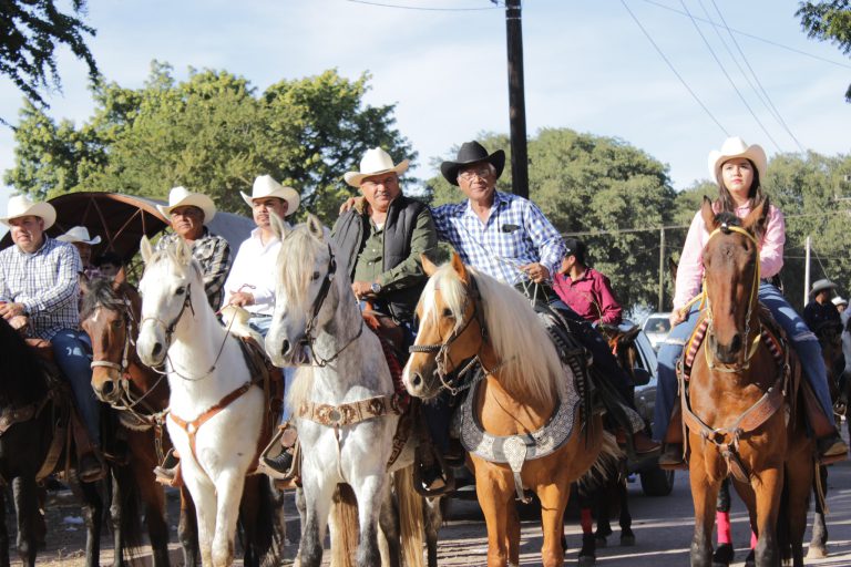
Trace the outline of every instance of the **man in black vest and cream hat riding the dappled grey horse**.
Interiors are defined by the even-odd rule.
[[[338,270],[350,277],[361,308],[368,302],[402,328],[406,352],[413,343],[417,301],[428,281],[420,257],[432,257],[438,244],[429,207],[402,194],[399,176],[408,164],[408,159],[394,164],[380,147],[368,150],[359,171],[344,175],[363,198],[341,213],[331,229]],[[288,458],[278,462],[278,473],[291,463],[289,453],[283,454]],[[439,487],[439,473],[432,467],[422,472],[426,488]]]

